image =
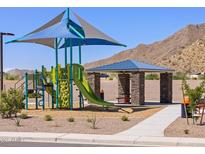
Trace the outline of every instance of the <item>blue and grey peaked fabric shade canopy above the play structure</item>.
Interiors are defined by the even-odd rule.
[[[54,48],[54,40],[56,38],[67,38],[65,44],[60,48],[79,45],[117,45],[125,46],[113,38],[107,36],[87,21],[82,19],[79,15],[74,14],[80,25],[76,24],[70,19],[63,19],[66,11],[63,11],[57,17],[24,35],[21,38],[9,41],[11,42],[27,42],[46,45]]]

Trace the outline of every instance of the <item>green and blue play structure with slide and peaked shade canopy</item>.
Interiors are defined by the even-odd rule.
[[[55,66],[47,70],[42,66],[41,71],[35,70],[32,74],[25,74],[23,84],[16,88],[23,88],[25,95],[25,108],[29,109],[29,98],[35,99],[36,109],[45,108],[45,93],[51,96],[52,109],[73,109],[73,84],[79,89],[79,108],[84,107],[84,100],[89,103],[110,106],[112,103],[101,100],[90,87],[86,72],[81,65],[81,47],[85,45],[115,45],[125,46],[89,24],[74,13],[79,22],[70,19],[72,12],[66,9],[57,17],[40,28],[7,43],[37,43],[51,47],[55,51]],[[65,17],[65,18],[63,18]],[[73,63],[73,47],[78,47],[78,64]],[[70,63],[67,60],[70,49]],[[58,54],[64,49],[65,64],[61,67]],[[18,81],[20,83],[20,81]],[[16,83],[16,85],[18,84]]]

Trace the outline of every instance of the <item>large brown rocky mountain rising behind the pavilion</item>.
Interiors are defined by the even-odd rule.
[[[109,58],[85,64],[85,67],[126,59],[169,67],[176,72],[205,72],[205,24],[188,25],[162,41],[139,44]]]

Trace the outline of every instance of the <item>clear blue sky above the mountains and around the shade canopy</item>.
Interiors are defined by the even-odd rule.
[[[18,38],[46,23],[65,8],[0,8],[0,31],[12,32],[5,41]],[[101,31],[127,45],[82,48],[82,62],[112,56],[140,43],[159,41],[188,24],[205,23],[205,8],[72,8]],[[63,64],[63,51],[59,55]],[[69,57],[68,57],[69,58]],[[74,61],[78,52],[74,49]],[[51,48],[27,43],[4,45],[4,69],[35,69],[55,64]]]

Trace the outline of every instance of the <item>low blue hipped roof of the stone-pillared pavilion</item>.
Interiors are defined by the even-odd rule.
[[[88,72],[172,72],[174,70],[156,65],[142,63],[136,60],[125,60],[87,69]]]

